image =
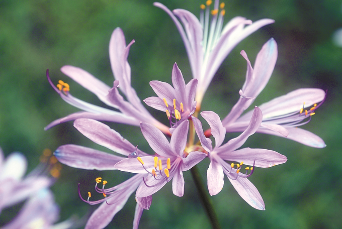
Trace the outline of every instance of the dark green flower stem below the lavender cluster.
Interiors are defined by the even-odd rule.
[[[196,188],[200,194],[202,204],[203,204],[203,206],[207,212],[207,215],[209,217],[212,228],[213,229],[220,229],[221,226],[218,222],[218,218],[217,218],[217,215],[216,215],[216,212],[214,209],[213,202],[212,202],[210,196],[208,195],[208,193],[206,192],[206,189],[203,185],[202,179],[201,179],[200,174],[198,172],[197,166],[192,167],[192,169],[190,169],[190,170],[191,170],[191,175],[194,179]]]

